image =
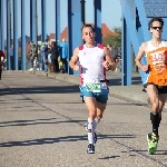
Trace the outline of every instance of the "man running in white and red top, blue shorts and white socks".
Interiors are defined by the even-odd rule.
[[[115,70],[116,65],[111,60],[110,51],[95,41],[95,30],[90,24],[82,27],[85,45],[75,49],[69,62],[70,68],[80,70],[80,91],[84,95],[88,108],[88,154],[95,153],[95,131],[97,121],[102,118],[108,100],[108,87],[106,84],[106,69]],[[80,66],[77,62],[80,62]]]

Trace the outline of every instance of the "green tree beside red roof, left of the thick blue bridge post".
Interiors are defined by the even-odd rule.
[[[116,32],[117,35],[116,36],[108,35],[106,38],[102,39],[102,43],[121,47],[121,28],[115,27],[112,31]]]

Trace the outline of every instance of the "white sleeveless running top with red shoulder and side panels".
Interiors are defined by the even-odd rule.
[[[79,47],[78,57],[80,61],[80,86],[106,80],[106,69],[102,66],[105,60],[102,45],[94,48],[87,48],[84,45]],[[107,88],[106,82],[102,82],[102,88]]]

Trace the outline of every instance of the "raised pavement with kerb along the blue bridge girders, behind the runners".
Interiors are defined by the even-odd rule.
[[[78,85],[79,84],[79,76],[75,75],[53,75],[53,73],[46,73],[41,71],[23,71],[24,73],[31,73],[37,76],[45,76],[48,78],[70,82]],[[109,80],[109,89],[110,95],[115,97],[119,97],[126,100],[132,100],[140,102],[143,105],[148,105],[147,94],[143,91],[143,84],[139,73],[134,72],[131,73],[131,86],[121,86],[121,72],[107,72],[107,79]],[[165,106],[167,109],[167,105]]]

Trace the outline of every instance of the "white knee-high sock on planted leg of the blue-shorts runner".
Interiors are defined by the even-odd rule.
[[[95,128],[96,128],[96,120],[88,118],[88,141],[89,144],[95,144]]]

